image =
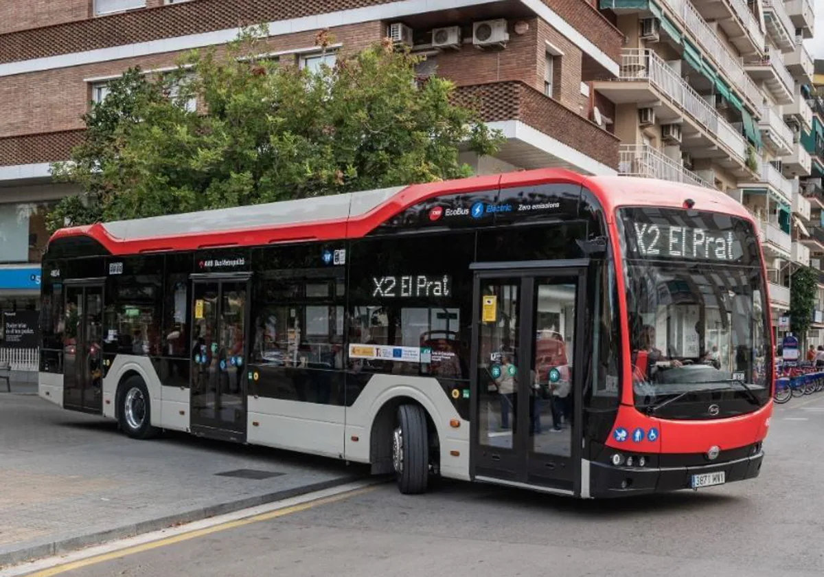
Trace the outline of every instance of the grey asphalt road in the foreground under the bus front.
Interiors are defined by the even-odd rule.
[[[824,394],[778,407],[772,428],[759,479],[698,493],[585,502],[382,485],[59,575],[822,575]]]

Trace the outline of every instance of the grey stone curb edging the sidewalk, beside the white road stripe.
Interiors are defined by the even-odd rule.
[[[26,561],[33,561],[42,557],[50,557],[63,555],[68,552],[77,551],[84,547],[91,545],[100,545],[103,542],[115,541],[116,539],[124,539],[126,537],[134,537],[146,532],[159,531],[176,525],[179,523],[192,523],[200,521],[204,518],[215,517],[217,515],[234,513],[241,509],[249,509],[250,507],[257,507],[262,504],[273,503],[274,501],[289,499],[290,497],[297,497],[317,490],[330,489],[331,487],[345,485],[353,481],[362,479],[363,476],[345,476],[330,481],[320,481],[312,483],[311,485],[302,485],[293,487],[292,489],[284,489],[275,491],[274,493],[267,493],[265,495],[258,495],[255,497],[245,497],[243,499],[227,501],[225,503],[218,503],[209,505],[203,509],[194,509],[185,511],[180,514],[167,515],[166,517],[150,519],[140,523],[130,523],[122,527],[107,529],[105,531],[98,531],[82,535],[79,537],[68,537],[59,541],[42,543],[40,545],[33,545],[30,547],[23,547],[16,551],[7,551],[0,553],[0,570],[8,568],[10,565],[19,565]]]

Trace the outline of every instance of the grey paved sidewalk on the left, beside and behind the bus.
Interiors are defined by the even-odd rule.
[[[134,441],[113,421],[37,396],[0,393],[0,567],[367,473],[331,459],[188,434]]]

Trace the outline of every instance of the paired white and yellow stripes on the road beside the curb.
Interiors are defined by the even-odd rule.
[[[343,486],[314,491],[307,493],[307,495],[236,511],[235,513],[219,515],[218,517],[203,519],[201,521],[195,521],[194,523],[186,523],[176,528],[166,528],[136,537],[119,539],[115,542],[90,547],[84,551],[74,551],[65,556],[49,557],[48,559],[32,561],[26,565],[16,565],[7,570],[0,571],[0,577],[16,577],[18,575],[26,575],[27,577],[52,577],[52,575],[60,575],[67,571],[82,569],[89,565],[97,565],[105,561],[119,559],[120,557],[189,541],[190,539],[203,537],[211,533],[243,527],[251,523],[269,521],[288,514],[312,509],[322,504],[330,504],[349,499],[355,495],[362,495],[363,493],[374,490],[378,482],[382,481],[348,483]],[[125,543],[135,544],[125,545]],[[67,561],[72,559],[73,561]]]

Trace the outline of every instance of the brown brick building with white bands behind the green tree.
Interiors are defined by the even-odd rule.
[[[480,103],[507,137],[475,171],[569,167],[616,173],[614,110],[592,81],[620,70],[624,35],[592,0],[53,0],[0,3],[0,309],[36,306],[44,212],[76,192],[49,162],[82,138],[81,115],[106,82],[138,65],[171,67],[182,51],[221,45],[238,26],[269,24],[271,54],[318,63],[390,35],[425,54],[458,97]],[[597,111],[596,111],[597,109]]]

